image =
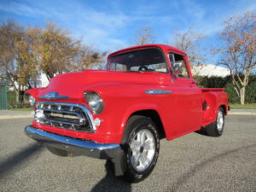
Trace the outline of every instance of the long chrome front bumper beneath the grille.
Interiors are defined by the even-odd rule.
[[[25,132],[28,137],[31,137],[39,143],[44,143],[46,146],[70,152],[73,155],[85,155],[107,160],[117,158],[123,153],[120,145],[116,143],[102,144],[65,137],[36,129],[31,125],[25,127]]]

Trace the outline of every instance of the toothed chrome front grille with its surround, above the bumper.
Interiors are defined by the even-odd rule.
[[[81,104],[38,102],[35,120],[39,124],[74,131],[96,131],[90,111]]]

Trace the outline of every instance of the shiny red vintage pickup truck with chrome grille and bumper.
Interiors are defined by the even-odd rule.
[[[224,89],[197,87],[187,55],[162,44],[121,49],[106,70],[60,74],[26,94],[35,110],[28,137],[53,154],[119,162],[131,182],[153,171],[160,138],[201,129],[219,137],[228,113]]]

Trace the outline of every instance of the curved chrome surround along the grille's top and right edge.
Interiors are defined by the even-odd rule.
[[[90,123],[90,126],[92,127],[92,131],[96,131],[96,125],[94,123],[94,119],[89,111],[88,108],[86,108],[84,105],[82,104],[78,104],[78,103],[69,103],[69,102],[38,102],[39,103],[39,106],[41,104],[46,104],[46,105],[63,105],[63,106],[70,106],[70,107],[78,107],[78,108],[82,108],[84,110],[84,113],[87,115],[88,119],[89,119],[89,123]],[[44,110],[44,108],[43,108]]]

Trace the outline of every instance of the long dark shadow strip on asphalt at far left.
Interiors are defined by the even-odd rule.
[[[27,162],[28,159],[40,153],[42,148],[42,145],[39,143],[32,143],[26,146],[26,148],[22,148],[18,153],[13,154],[8,159],[3,160],[3,162],[0,162],[0,179],[10,172],[13,172],[21,164]]]

